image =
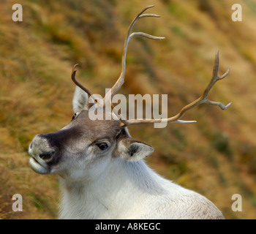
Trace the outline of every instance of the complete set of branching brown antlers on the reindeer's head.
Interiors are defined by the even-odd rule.
[[[139,19],[146,18],[146,17],[156,17],[156,18],[160,17],[159,15],[155,15],[155,14],[143,14],[143,12],[145,12],[146,10],[148,10],[149,8],[152,8],[152,7],[154,7],[154,5],[146,7],[144,10],[142,10],[134,18],[134,20],[132,20],[132,23],[130,24],[128,32],[127,32],[127,37],[126,37],[126,39],[124,41],[124,52],[123,52],[123,55],[122,55],[122,62],[121,62],[121,74],[120,74],[118,80],[116,81],[116,83],[114,84],[114,86],[112,88],[110,88],[110,91],[108,91],[108,93],[105,95],[105,97],[103,99],[103,102],[97,103],[97,105],[99,105],[99,107],[105,107],[106,103],[108,103],[110,101],[110,99],[113,97],[113,95],[116,94],[116,92],[124,84],[124,75],[125,75],[125,70],[126,70],[126,56],[127,56],[127,48],[128,48],[129,40],[132,39],[132,37],[138,37],[138,36],[139,37],[146,37],[148,39],[156,39],[156,40],[165,39],[165,37],[155,37],[155,36],[152,36],[151,34],[146,34],[146,33],[143,33],[143,32],[133,32],[131,34],[133,26],[135,25],[135,23]],[[72,80],[83,91],[85,91],[87,94],[89,94],[89,96],[92,96],[94,93],[91,92],[85,86],[83,86],[81,83],[79,83],[78,80],[76,80],[76,78],[75,78],[75,74],[76,74],[75,68],[77,66],[78,66],[78,64],[75,64],[75,66],[72,69]],[[211,81],[210,81],[210,83],[208,83],[208,86],[203,91],[203,94],[198,99],[196,99],[194,102],[191,102],[188,105],[186,105],[185,107],[183,107],[180,110],[180,112],[178,114],[176,114],[176,116],[173,116],[173,117],[170,117],[170,118],[161,118],[161,119],[142,119],[142,120],[141,119],[140,120],[132,119],[132,120],[125,120],[123,118],[123,116],[121,116],[120,114],[118,114],[116,112],[113,104],[111,104],[111,106],[113,108],[113,112],[116,114],[116,116],[121,121],[121,127],[127,127],[129,125],[134,125],[134,124],[153,124],[153,123],[161,123],[161,122],[181,123],[181,124],[195,123],[196,121],[184,121],[184,120],[181,120],[180,118],[182,118],[184,116],[184,114],[188,110],[191,110],[193,107],[195,107],[197,105],[201,105],[203,103],[207,103],[207,104],[210,104],[210,105],[217,105],[222,110],[226,110],[232,104],[232,102],[230,102],[228,105],[225,106],[221,102],[213,102],[213,101],[208,99],[208,93],[211,90],[211,88],[214,86],[214,84],[218,80],[224,79],[229,74],[230,68],[228,68],[227,72],[225,72],[225,74],[222,75],[221,77],[218,76],[218,71],[219,71],[219,50],[217,50],[217,54],[215,56],[214,69],[213,69],[213,74],[212,74],[212,77],[211,77]]]

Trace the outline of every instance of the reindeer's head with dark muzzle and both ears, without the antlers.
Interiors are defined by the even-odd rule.
[[[138,161],[153,152],[151,146],[130,137],[120,121],[91,120],[87,107],[88,95],[75,88],[72,121],[58,132],[37,135],[29,146],[29,162],[34,171],[91,178],[105,170],[113,157]]]

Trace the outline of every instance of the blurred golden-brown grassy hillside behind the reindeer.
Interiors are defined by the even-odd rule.
[[[12,5],[0,3],[0,219],[56,219],[59,181],[29,166],[34,135],[55,132],[72,118],[70,78],[105,94],[121,71],[127,28],[148,12],[135,31],[162,41],[129,43],[122,94],[168,94],[168,116],[200,96],[219,49],[219,75],[230,75],[209,99],[233,102],[228,110],[202,105],[186,120],[197,124],[129,127],[132,137],[154,146],[148,165],[165,178],[213,201],[226,219],[256,218],[256,3],[252,0],[23,0],[23,22],[12,21]],[[233,4],[243,21],[233,22]],[[12,195],[23,196],[23,212],[12,211]],[[242,197],[234,212],[233,194]]]

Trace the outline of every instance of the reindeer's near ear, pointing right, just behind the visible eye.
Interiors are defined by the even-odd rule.
[[[118,141],[116,156],[121,156],[131,162],[145,159],[152,154],[154,148],[131,137],[124,137]]]

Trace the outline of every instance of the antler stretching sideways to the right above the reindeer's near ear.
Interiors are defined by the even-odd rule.
[[[227,72],[225,72],[225,74],[222,75],[221,77],[218,76],[218,71],[219,71],[219,50],[217,50],[217,54],[215,56],[214,69],[213,69],[211,81],[210,81],[210,83],[208,83],[208,86],[206,87],[206,89],[203,91],[203,94],[198,99],[196,99],[194,102],[191,102],[188,105],[186,105],[185,107],[183,107],[181,109],[181,111],[176,116],[173,116],[170,118],[163,118],[163,119],[128,120],[127,121],[128,125],[126,124],[126,126],[134,125],[134,124],[152,124],[152,123],[160,123],[160,122],[181,123],[181,124],[195,123],[196,121],[183,121],[183,120],[180,120],[180,118],[182,118],[182,116],[184,116],[184,113],[186,113],[188,110],[192,109],[193,107],[195,107],[197,105],[201,105],[203,103],[208,103],[210,105],[217,105],[222,110],[226,110],[228,107],[230,107],[232,102],[230,102],[228,105],[225,106],[221,102],[212,102],[208,99],[208,93],[211,90],[211,88],[214,86],[214,84],[218,80],[224,79],[229,74],[230,68],[228,68]],[[124,125],[122,125],[122,126],[124,127]]]

